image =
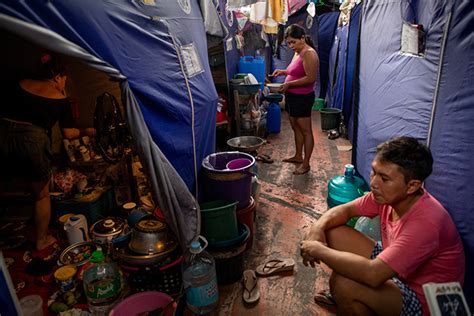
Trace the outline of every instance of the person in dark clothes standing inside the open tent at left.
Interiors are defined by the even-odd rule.
[[[0,174],[2,179],[22,178],[29,182],[35,200],[36,250],[41,251],[56,244],[48,232],[52,170],[50,130],[59,122],[62,135],[67,139],[79,137],[80,130],[74,127],[71,106],[65,95],[66,68],[51,54],[38,59],[36,77],[9,87],[7,93],[11,97],[7,100],[10,101],[0,107]]]

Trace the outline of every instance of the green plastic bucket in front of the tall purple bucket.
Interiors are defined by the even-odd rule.
[[[209,243],[230,240],[239,235],[237,203],[238,201],[218,200],[200,204],[201,235]]]

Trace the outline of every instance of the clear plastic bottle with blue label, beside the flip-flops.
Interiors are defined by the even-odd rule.
[[[204,251],[207,240],[199,236],[194,240],[183,262],[183,285],[186,290],[188,308],[198,315],[207,314],[216,308],[219,301],[216,266],[212,256]]]

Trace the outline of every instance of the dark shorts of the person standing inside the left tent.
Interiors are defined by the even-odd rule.
[[[8,178],[43,181],[51,176],[51,142],[35,125],[0,118],[0,174]]]

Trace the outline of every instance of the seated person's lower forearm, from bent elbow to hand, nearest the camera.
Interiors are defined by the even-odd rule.
[[[368,259],[363,256],[334,250],[319,241],[305,240],[301,253],[311,256],[315,261],[323,261],[336,273],[351,280],[378,287],[396,275],[396,272],[379,258]]]

